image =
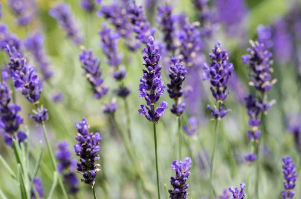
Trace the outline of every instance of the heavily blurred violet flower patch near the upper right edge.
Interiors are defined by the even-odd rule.
[[[284,64],[292,60],[292,36],[285,20],[279,19],[273,25],[273,52],[276,62]]]

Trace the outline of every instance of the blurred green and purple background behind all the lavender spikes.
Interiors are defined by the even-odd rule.
[[[117,1],[117,0],[116,0]],[[145,2],[147,1],[147,2]],[[157,28],[156,39],[162,40],[160,25],[156,22],[157,6],[163,4],[161,0],[137,0],[137,4],[142,4],[147,13],[150,24]],[[150,3],[149,3],[149,2]],[[225,1],[218,7],[219,1]],[[81,52],[80,46],[66,38],[65,32],[59,27],[54,18],[49,16],[49,9],[58,0],[36,0],[36,17],[26,27],[15,24],[15,16],[11,13],[8,0],[1,0],[3,16],[1,23],[6,23],[11,32],[16,33],[20,38],[25,39],[28,35],[41,32],[45,36],[45,49],[50,57],[51,68],[54,75],[51,80],[45,82],[41,103],[49,110],[50,119],[47,122],[49,136],[56,150],[60,140],[67,140],[72,149],[76,143],[76,128],[74,122],[87,118],[91,125],[90,131],[98,131],[103,139],[100,141],[101,150],[100,164],[101,171],[96,177],[96,192],[99,198],[156,198],[156,169],[154,156],[153,125],[144,116],[139,115],[137,109],[144,103],[143,98],[138,97],[139,78],[142,75],[141,63],[142,52],[129,51],[122,39],[119,40],[119,50],[123,55],[122,64],[128,71],[128,76],[124,83],[131,88],[131,93],[127,98],[129,104],[130,129],[132,131],[132,144],[138,154],[138,161],[145,170],[149,188],[154,190],[152,196],[143,191],[141,181],[137,179],[136,172],[126,153],[122,140],[112,123],[110,117],[102,113],[104,103],[109,103],[115,96],[114,92],[109,92],[102,99],[92,97],[92,90],[83,75],[83,69],[79,62],[78,54]],[[101,24],[105,22],[103,17],[96,16],[95,12],[87,13],[80,7],[80,0],[64,0],[70,4],[79,30],[85,40],[82,43],[87,49],[92,49],[99,57],[103,70],[104,84],[111,90],[117,87],[116,82],[111,77],[110,67],[106,63],[106,57],[99,45],[100,37],[98,31]],[[103,0],[109,4],[109,0]],[[243,3],[243,9],[238,6]],[[222,121],[220,136],[218,138],[214,186],[219,193],[224,188],[231,185],[239,186],[244,181],[247,184],[247,198],[254,196],[255,170],[253,165],[245,162],[243,156],[249,152],[248,138],[246,135],[248,127],[248,116],[244,107],[243,97],[250,92],[248,85],[249,76],[246,65],[242,64],[241,55],[247,53],[249,39],[256,39],[256,28],[259,24],[269,25],[272,28],[272,47],[274,59],[273,78],[277,79],[274,88],[269,92],[268,98],[277,102],[268,111],[264,120],[264,133],[266,139],[260,148],[263,160],[260,173],[260,198],[281,198],[280,190],[283,186],[283,175],[281,170],[281,157],[290,155],[296,164],[297,174],[301,175],[301,151],[296,146],[296,134],[287,130],[289,124],[300,125],[300,85],[301,85],[301,11],[299,0],[212,0],[210,8],[213,13],[224,14],[215,18],[214,35],[208,39],[208,48],[204,49],[200,57],[203,62],[208,60],[208,52],[217,40],[221,41],[224,48],[228,50],[231,62],[235,67],[237,81],[229,86],[232,90],[225,103],[227,108],[231,108]],[[198,10],[191,0],[173,0],[175,14],[185,13],[190,21],[198,20]],[[101,6],[96,5],[97,9]],[[95,10],[96,11],[96,10]],[[234,22],[233,22],[234,21]],[[280,35],[280,36],[279,36]],[[282,37],[281,37],[282,36]],[[282,40],[279,38],[281,37]],[[277,40],[278,39],[278,40]],[[280,40],[279,40],[280,39]],[[142,49],[142,48],[141,48]],[[34,65],[32,55],[25,50],[25,56]],[[6,53],[0,54],[0,64],[4,65],[8,61]],[[163,64],[163,63],[162,63]],[[163,65],[165,71],[170,65]],[[198,74],[202,73],[202,68],[196,69]],[[167,83],[169,79],[163,75],[163,81]],[[207,103],[213,104],[210,85],[202,81],[201,75],[187,78],[186,86],[193,87],[194,97],[186,99],[187,110],[183,115],[183,124],[188,123],[188,118],[195,116],[198,120],[196,136],[189,136],[183,131],[183,155],[191,156],[193,165],[189,177],[188,198],[209,197],[209,178],[203,168],[203,163],[199,158],[199,153],[211,155],[214,139],[214,122],[206,109]],[[62,93],[63,99],[54,102],[53,96]],[[172,104],[167,92],[162,98]],[[124,101],[117,98],[118,108],[115,112],[117,122],[125,130],[126,118]],[[31,146],[31,166],[34,167],[35,160],[39,152],[39,140],[43,140],[42,127],[37,126],[28,117],[32,111],[32,105],[25,100],[21,93],[17,93],[17,103],[22,106],[22,116],[25,124],[30,128]],[[25,125],[22,126],[25,129]],[[170,164],[177,158],[175,148],[178,138],[176,136],[177,120],[170,110],[167,110],[157,125],[158,149],[159,149],[159,169],[162,196],[165,195],[164,183],[172,188],[169,181],[174,175]],[[1,155],[9,165],[17,170],[14,153],[11,147],[1,141]],[[75,153],[73,154],[74,158]],[[209,159],[208,159],[209,161]],[[0,164],[0,189],[9,198],[19,198],[20,193],[14,179]],[[45,194],[49,192],[53,173],[51,161],[44,143],[43,158],[38,173],[43,180]],[[80,174],[77,175],[80,178]],[[250,177],[248,177],[250,176]],[[249,180],[248,180],[249,179]],[[80,183],[80,191],[77,198],[92,198],[90,187]],[[295,187],[295,198],[301,198],[301,178],[299,177]],[[60,187],[57,186],[53,198],[61,198]],[[254,197],[255,198],[255,197]]]

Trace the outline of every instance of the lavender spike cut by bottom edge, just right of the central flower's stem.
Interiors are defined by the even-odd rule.
[[[175,177],[171,177],[171,184],[174,190],[168,190],[170,193],[170,198],[186,199],[186,195],[189,193],[187,190],[189,185],[186,184],[186,181],[190,175],[189,170],[191,169],[191,164],[192,161],[190,157],[185,157],[183,162],[175,160],[171,164],[172,169],[176,171],[176,175]]]

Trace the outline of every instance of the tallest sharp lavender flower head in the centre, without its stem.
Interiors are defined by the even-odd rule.
[[[154,112],[153,106],[158,102],[160,95],[164,94],[165,85],[160,71],[162,66],[158,63],[161,56],[158,54],[159,49],[154,46],[155,38],[149,36],[148,40],[149,43],[144,48],[147,55],[143,56],[144,62],[142,63],[148,71],[143,69],[143,76],[140,78],[139,97],[144,97],[149,107],[141,105],[141,109],[138,111],[139,114],[144,114],[149,121],[157,122],[164,115],[164,109],[168,108],[168,105],[167,102],[161,101],[160,106]]]

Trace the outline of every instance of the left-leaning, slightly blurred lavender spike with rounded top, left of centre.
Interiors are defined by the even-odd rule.
[[[79,59],[85,69],[85,75],[93,88],[93,97],[99,99],[104,96],[108,89],[103,86],[103,78],[101,77],[100,60],[96,56],[93,56],[92,50],[85,50],[79,54]]]

